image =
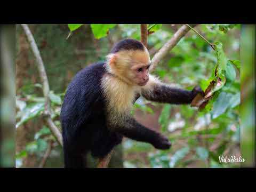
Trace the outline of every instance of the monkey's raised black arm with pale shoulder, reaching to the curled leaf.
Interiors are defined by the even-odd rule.
[[[199,86],[195,86],[192,91],[183,90],[159,82],[152,76],[148,85],[141,90],[142,97],[147,100],[170,104],[189,104],[197,93],[202,93]]]

